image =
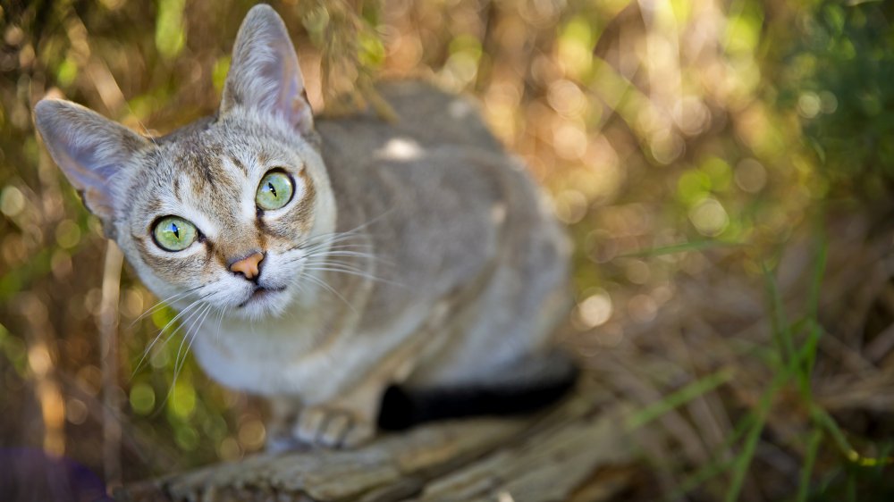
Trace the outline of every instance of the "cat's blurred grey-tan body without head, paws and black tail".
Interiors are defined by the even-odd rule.
[[[318,402],[421,336],[432,339],[433,352],[420,357],[406,383],[461,385],[544,348],[565,313],[565,242],[523,167],[465,100],[421,83],[382,90],[397,123],[361,115],[316,124],[338,194],[336,231],[350,232],[352,249],[375,255],[340,261],[367,276],[323,272],[342,297],[316,285],[308,305],[295,305],[298,312],[286,313],[277,327],[267,323],[265,332],[284,340],[274,352],[257,347],[250,321],[197,338],[199,360],[226,368],[211,370],[218,380],[267,395],[300,391]],[[452,106],[459,116],[420,129],[420,103]],[[433,315],[441,318],[437,329],[451,334],[421,332]],[[238,357],[228,359],[231,347],[239,347]],[[271,357],[283,363],[266,375],[242,376]],[[243,365],[250,367],[231,371]]]

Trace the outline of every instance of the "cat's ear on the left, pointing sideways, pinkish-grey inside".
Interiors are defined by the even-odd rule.
[[[116,174],[148,140],[81,105],[43,99],[34,107],[35,123],[50,155],[72,182],[91,213],[110,232]]]

